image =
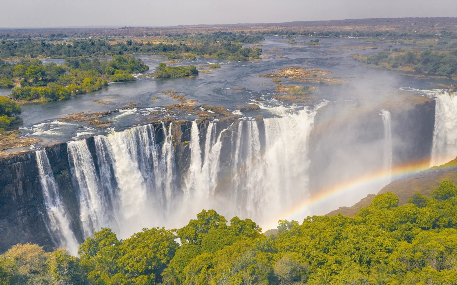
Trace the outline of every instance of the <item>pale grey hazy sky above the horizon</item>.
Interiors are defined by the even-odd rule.
[[[457,0],[0,0],[0,7],[4,28],[457,16]]]

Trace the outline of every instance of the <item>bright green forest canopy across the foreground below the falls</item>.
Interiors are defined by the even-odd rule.
[[[19,244],[0,255],[0,284],[457,284],[457,188],[444,181],[398,203],[388,192],[353,218],[281,220],[269,237],[248,218],[227,225],[203,210],[183,228],[124,240],[102,228],[80,257]]]

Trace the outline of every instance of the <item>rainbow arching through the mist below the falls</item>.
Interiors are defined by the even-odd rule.
[[[297,219],[297,217],[305,218],[307,216],[305,212],[308,207],[325,202],[327,199],[349,192],[356,187],[363,187],[375,182],[387,181],[388,178],[391,178],[392,181],[394,181],[400,177],[424,171],[428,168],[430,168],[429,158],[420,161],[412,161],[403,165],[394,166],[392,171],[373,171],[367,175],[359,176],[356,179],[344,181],[340,184],[320,190],[277,215],[276,219],[271,220],[270,223],[266,223],[265,230],[276,228],[279,220],[292,220],[294,218]]]

